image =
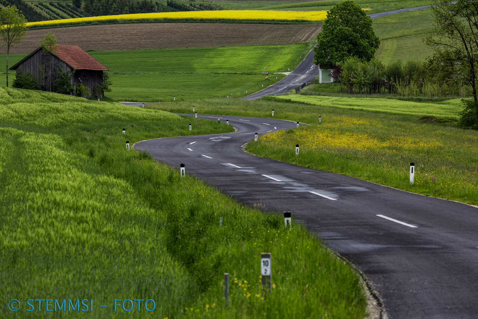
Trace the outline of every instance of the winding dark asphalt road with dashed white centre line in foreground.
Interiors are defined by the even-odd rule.
[[[154,139],[134,147],[173,167],[185,163],[187,174],[249,206],[292,211],[358,265],[391,319],[478,317],[477,208],[248,154],[241,146],[254,143],[255,132],[296,124],[219,118],[238,131]]]

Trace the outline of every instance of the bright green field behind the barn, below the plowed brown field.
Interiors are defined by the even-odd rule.
[[[155,102],[172,101],[174,96],[178,100],[245,96],[284,77],[270,74],[265,80],[262,71],[293,70],[309,51],[310,45],[303,43],[89,53],[111,72],[113,85],[107,97]],[[10,55],[9,66],[24,56]],[[6,55],[0,56],[0,64],[6,64]],[[5,85],[5,72],[0,76]],[[10,71],[10,85],[14,78]]]

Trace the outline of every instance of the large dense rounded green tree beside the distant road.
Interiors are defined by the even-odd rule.
[[[379,45],[372,19],[354,1],[342,1],[327,11],[314,48],[315,64],[337,65],[350,56],[370,61]]]

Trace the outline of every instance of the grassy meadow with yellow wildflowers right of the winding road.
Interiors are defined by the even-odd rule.
[[[308,105],[274,98],[224,103],[205,100],[152,107],[190,112],[194,105],[203,114],[255,117],[271,117],[274,109],[274,118],[311,125],[265,134],[259,143],[248,144],[249,152],[418,194],[478,204],[478,132],[453,124],[423,122],[417,115],[404,114],[414,105],[412,102],[380,99],[376,110],[363,110],[362,103],[375,103],[368,100],[354,102],[356,107]],[[403,114],[379,111],[382,103],[401,105]],[[454,105],[453,100],[444,101],[441,107],[452,116]],[[425,118],[436,114],[432,106],[426,110],[430,113],[417,114],[426,115]],[[297,157],[296,143],[301,145],[301,155]],[[413,185],[408,179],[410,162],[416,165],[417,182]]]

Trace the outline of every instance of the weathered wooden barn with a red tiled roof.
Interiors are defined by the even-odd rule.
[[[93,93],[93,88],[103,84],[103,71],[108,71],[105,66],[79,46],[60,44],[57,45],[54,53],[44,52],[42,47],[39,47],[12,66],[10,70],[32,72],[38,84],[43,84],[47,91],[54,92],[54,80],[59,78],[58,65],[61,66],[64,73],[76,69],[71,84],[77,86],[81,83],[89,88],[91,93]],[[71,94],[74,95],[76,92]],[[83,97],[89,98],[90,96],[83,95]],[[103,90],[99,92],[98,97],[104,97]]]

